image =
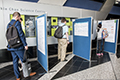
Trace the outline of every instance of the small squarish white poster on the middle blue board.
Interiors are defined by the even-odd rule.
[[[77,36],[88,36],[88,22],[75,23],[74,34]]]

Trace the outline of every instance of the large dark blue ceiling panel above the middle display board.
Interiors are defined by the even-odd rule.
[[[100,11],[106,0],[67,0],[63,6]]]

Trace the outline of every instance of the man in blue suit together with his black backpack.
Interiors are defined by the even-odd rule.
[[[14,68],[14,74],[16,76],[16,80],[21,80],[20,71],[18,69],[18,61],[20,59],[21,62],[23,62],[24,49],[28,50],[28,46],[27,46],[27,43],[26,43],[26,38],[25,38],[24,33],[22,31],[21,23],[19,22],[20,18],[21,18],[20,13],[19,12],[14,12],[13,13],[13,18],[8,23],[8,26],[7,26],[7,32],[10,32],[13,35],[13,37],[10,38],[11,36],[8,36],[9,34],[6,32],[6,38],[7,38],[7,41],[8,41],[8,51],[11,51],[11,54],[12,54],[12,57],[13,57],[13,68]],[[15,41],[11,41],[11,40],[16,40],[16,37],[14,37],[14,35],[15,35],[14,30],[15,29],[13,29],[12,31],[9,31],[10,28],[13,28],[12,26],[15,26],[15,28],[17,29],[18,36],[20,38],[20,40],[17,41],[17,43],[21,43],[20,45],[18,44],[17,46],[15,46],[17,43],[14,44],[14,45],[11,45],[13,42],[15,42]],[[11,42],[9,42],[9,41],[11,41]],[[31,73],[30,76],[33,76],[35,74],[36,74],[36,72]]]

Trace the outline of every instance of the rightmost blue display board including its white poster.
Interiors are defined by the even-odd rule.
[[[108,37],[105,39],[104,51],[116,53],[117,49],[117,36],[118,36],[118,25],[119,20],[104,20],[102,27],[108,31]]]

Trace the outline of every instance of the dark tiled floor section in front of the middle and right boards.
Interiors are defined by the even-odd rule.
[[[74,56],[52,79],[70,75],[93,66],[110,61],[108,53],[104,53],[103,57],[97,57],[96,54],[92,54],[92,61],[89,62],[80,57]]]

